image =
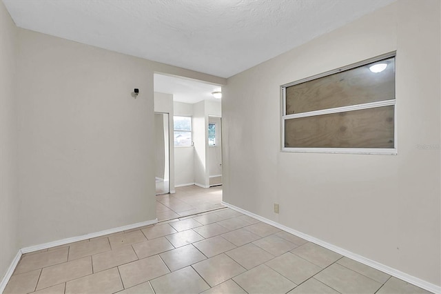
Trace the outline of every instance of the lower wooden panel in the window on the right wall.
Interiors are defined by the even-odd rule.
[[[394,106],[285,120],[287,148],[394,148]]]

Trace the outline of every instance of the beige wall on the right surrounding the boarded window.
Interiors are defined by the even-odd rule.
[[[280,85],[393,50],[398,155],[280,152]],[[440,149],[418,148],[440,144],[439,1],[398,1],[229,78],[223,94],[225,202],[441,284]]]

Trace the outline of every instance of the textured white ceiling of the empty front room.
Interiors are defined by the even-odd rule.
[[[231,77],[395,0],[3,0],[17,26]]]

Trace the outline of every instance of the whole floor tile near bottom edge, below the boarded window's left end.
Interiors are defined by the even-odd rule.
[[[296,284],[305,282],[322,270],[320,266],[311,264],[290,252],[271,259],[266,265]]]

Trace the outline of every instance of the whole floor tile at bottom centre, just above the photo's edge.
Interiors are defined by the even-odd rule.
[[[224,253],[198,262],[193,265],[193,268],[212,287],[246,271]]]

